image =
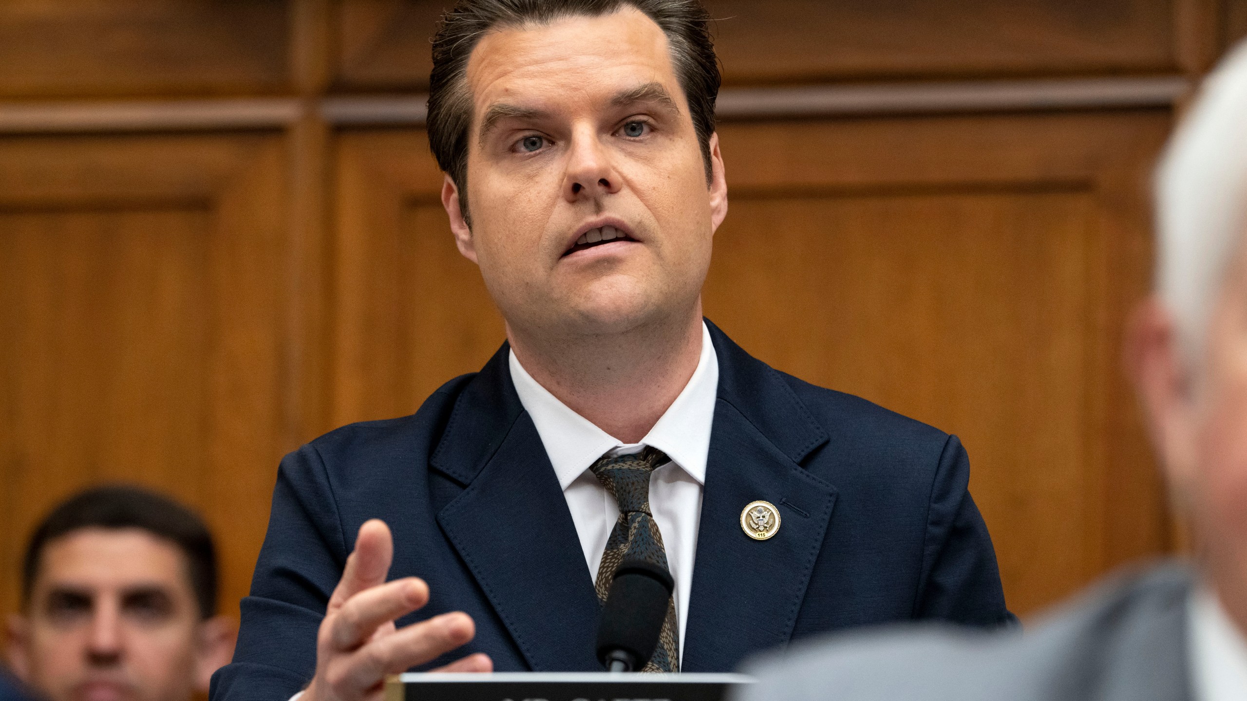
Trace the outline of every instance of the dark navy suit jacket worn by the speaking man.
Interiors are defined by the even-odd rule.
[[[1011,621],[960,442],[749,357],[718,353],[681,669],[727,671],[764,649],[908,619]],[[779,531],[748,538],[749,501]],[[284,701],[315,670],[317,627],[359,526],[394,534],[390,578],[424,578],[410,624],[476,621],[443,665],[485,652],[499,671],[600,670],[600,605],[554,468],[515,393],[508,347],[412,417],[353,424],[282,460],[233,664],[213,700]]]

